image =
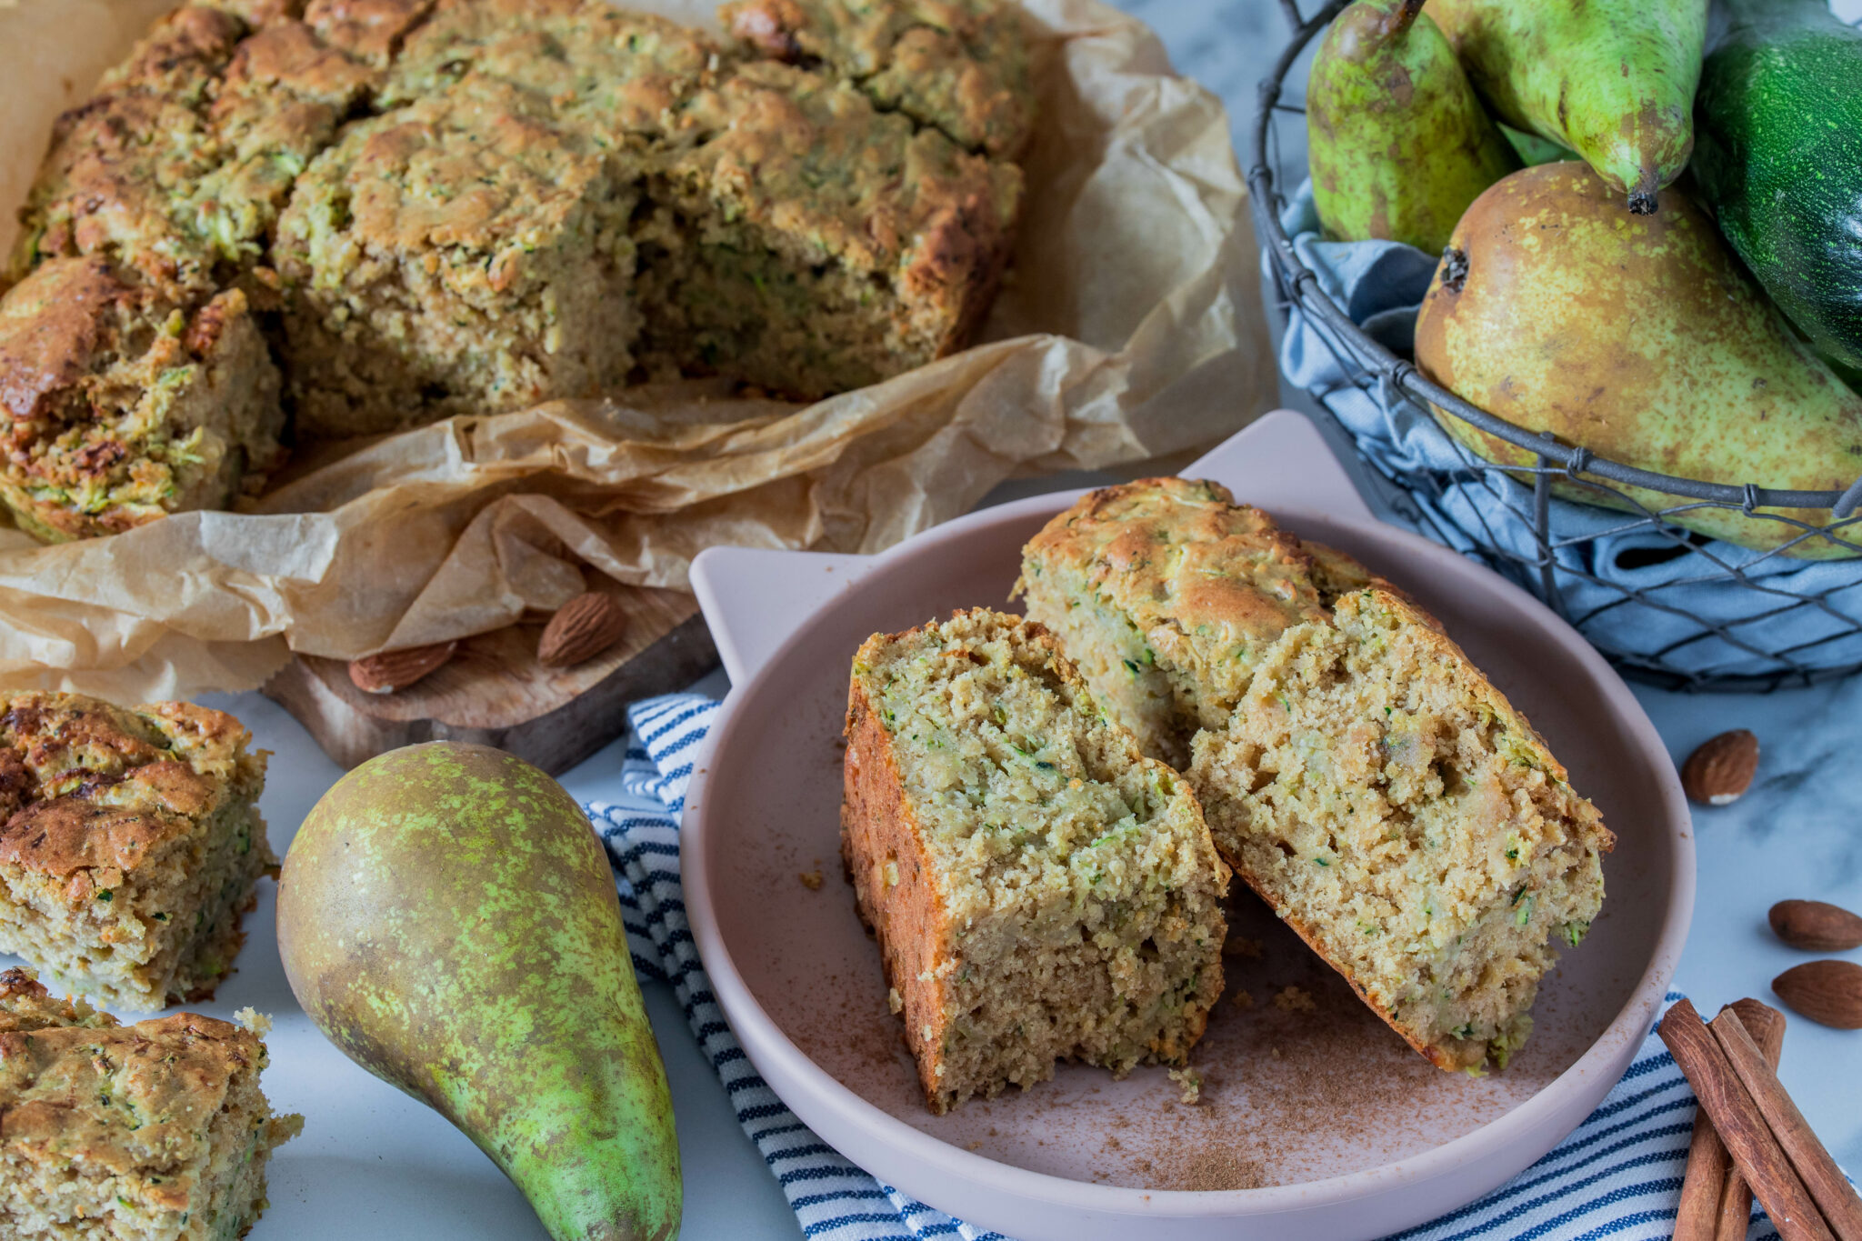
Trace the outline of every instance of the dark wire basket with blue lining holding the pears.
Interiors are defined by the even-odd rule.
[[[1277,173],[1283,151],[1305,147],[1305,108],[1283,99],[1287,73],[1346,0],[1329,0],[1311,17],[1302,17],[1298,0],[1279,6],[1292,39],[1261,82],[1249,134],[1255,236],[1289,346],[1292,333],[1300,333],[1302,348],[1316,340],[1329,355],[1320,368],[1329,378],[1305,387],[1354,437],[1389,508],[1531,590],[1635,679],[1691,690],[1771,690],[1862,672],[1862,558],[1801,558],[1812,547],[1862,556],[1856,514],[1862,478],[1847,491],[1728,486],[1655,474],[1558,443],[1432,383],[1402,354],[1402,342],[1380,342],[1361,326],[1361,311],[1354,318],[1328,292],[1328,281],[1302,257],[1287,229],[1289,212],[1298,214],[1303,199],[1289,203]],[[1285,125],[1300,127],[1298,141],[1283,138]],[[1311,246],[1303,249],[1307,257],[1316,253]],[[1404,253],[1426,264],[1424,270],[1434,268],[1432,257]],[[1290,368],[1289,357],[1283,352],[1283,370]],[[1370,409],[1367,398],[1376,419],[1341,417],[1341,409]],[[1475,456],[1434,424],[1430,406],[1529,450],[1536,465],[1501,467]],[[1376,426],[1378,419],[1385,430]],[[1385,450],[1387,428],[1398,426],[1410,435],[1434,434],[1432,456],[1417,460]],[[1555,480],[1560,491],[1581,487],[1605,504],[1553,497]],[[1650,508],[1624,487],[1655,491],[1663,504]],[[1713,508],[1795,530],[1784,547],[1748,551],[1668,521]],[[1771,508],[1821,510],[1823,519],[1812,525],[1761,512]],[[1788,554],[1793,551],[1799,556]]]

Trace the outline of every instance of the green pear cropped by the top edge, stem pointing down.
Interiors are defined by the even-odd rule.
[[[1493,115],[1575,151],[1629,210],[1694,149],[1707,0],[1428,0]]]

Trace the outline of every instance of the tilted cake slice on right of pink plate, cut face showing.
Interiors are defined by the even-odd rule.
[[[1504,1066],[1614,843],[1504,696],[1393,592],[1259,662],[1190,780],[1235,871],[1441,1068]]]

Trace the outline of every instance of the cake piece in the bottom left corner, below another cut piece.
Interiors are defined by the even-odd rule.
[[[233,1241],[304,1128],[259,1088],[263,1020],[117,1025],[0,973],[0,1232],[17,1241]]]

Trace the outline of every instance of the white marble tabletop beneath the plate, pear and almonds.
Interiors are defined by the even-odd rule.
[[[1253,108],[1261,58],[1283,35],[1270,0],[1123,0],[1164,35],[1184,73],[1221,93],[1235,125]],[[1311,7],[1307,2],[1305,7]],[[1862,15],[1862,0],[1840,0]],[[1076,486],[1076,484],[1074,484]],[[1020,491],[1030,491],[1022,486]],[[709,679],[722,692],[722,677]],[[1702,739],[1750,727],[1763,744],[1760,781],[1724,809],[1696,813],[1700,897],[1678,986],[1702,1010],[1739,995],[1773,999],[1769,981],[1801,954],[1765,927],[1784,897],[1815,897],[1862,910],[1862,681],[1763,698],[1678,696],[1639,690],[1676,759]],[[335,780],[335,767],[276,705],[246,694],[225,700],[276,752],[264,794],[274,847],[283,854],[298,821]],[[566,783],[579,798],[614,778],[611,746]],[[1637,824],[1612,824],[1633,832]],[[272,1172],[272,1211],[253,1241],[335,1237],[542,1239],[534,1217],[505,1178],[462,1135],[423,1105],[350,1064],[311,1027],[285,986],[272,923],[272,886],[251,915],[238,973],[207,1010],[229,1016],[253,1005],[277,1018],[268,1090],[281,1109],[309,1116]],[[1851,953],[1862,958],[1862,953]],[[667,1059],[685,1161],[685,1237],[693,1241],[797,1237],[775,1178],[743,1137],[709,1064],[695,1049],[665,986],[648,1007]],[[1862,1170],[1862,1033],[1793,1021],[1782,1066],[1786,1085],[1851,1170]]]

